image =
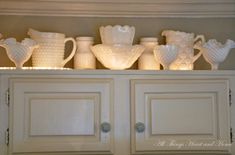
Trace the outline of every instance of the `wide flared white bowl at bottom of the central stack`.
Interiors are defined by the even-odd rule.
[[[134,46],[109,46],[95,45],[91,47],[96,58],[107,68],[122,70],[130,68],[144,52],[141,45]]]

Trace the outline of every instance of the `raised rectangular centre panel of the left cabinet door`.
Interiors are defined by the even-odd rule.
[[[27,94],[25,98],[30,136],[95,135],[95,125],[99,123],[95,122],[99,118],[98,94]]]

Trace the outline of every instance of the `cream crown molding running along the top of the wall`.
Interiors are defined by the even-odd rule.
[[[1,15],[235,17],[235,0],[0,0]]]

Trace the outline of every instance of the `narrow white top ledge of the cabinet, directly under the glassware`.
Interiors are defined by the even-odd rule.
[[[90,78],[99,77],[102,78],[104,75],[112,77],[112,75],[130,75],[128,79],[131,78],[148,78],[148,79],[197,79],[197,78],[210,78],[216,79],[221,77],[226,77],[233,79],[235,72],[233,70],[109,70],[109,69],[96,69],[96,70],[74,70],[74,69],[34,69],[33,67],[24,67],[22,70],[17,70],[15,67],[0,67],[0,75],[5,76],[37,76],[37,77],[55,77],[57,75],[60,78],[65,77],[88,77]],[[24,76],[26,75],[26,76]]]

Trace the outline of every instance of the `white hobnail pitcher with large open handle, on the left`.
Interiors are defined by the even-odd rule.
[[[29,29],[28,35],[39,44],[32,54],[33,67],[63,67],[71,60],[76,51],[76,41],[65,38],[65,34],[53,32],[39,32]],[[72,41],[71,54],[65,59],[65,43]]]

